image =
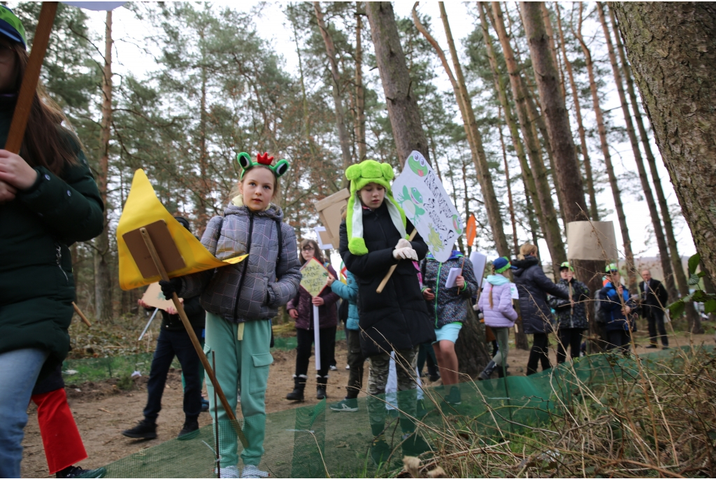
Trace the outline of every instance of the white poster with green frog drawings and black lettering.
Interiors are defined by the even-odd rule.
[[[441,263],[448,261],[455,240],[463,234],[463,221],[425,157],[410,153],[392,190],[432,256]]]

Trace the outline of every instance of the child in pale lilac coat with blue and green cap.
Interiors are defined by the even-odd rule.
[[[517,311],[512,306],[511,283],[503,276],[503,273],[511,267],[508,258],[495,259],[493,274],[487,277],[487,282],[483,286],[483,292],[478,300],[478,306],[485,317],[485,325],[490,326],[490,329],[493,330],[500,346],[495,357],[478,376],[480,381],[490,379],[490,374],[495,367],[499,366],[500,370],[503,370],[503,365],[507,366],[510,328],[515,325],[517,320]]]

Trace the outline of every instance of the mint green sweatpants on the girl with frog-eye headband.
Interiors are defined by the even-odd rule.
[[[216,357],[216,379],[232,410],[236,411],[236,392],[241,390],[241,416],[243,434],[248,447],[241,452],[245,465],[258,465],[263,455],[263,436],[266,433],[266,383],[269,382],[269,364],[274,357],[269,352],[271,321],[248,321],[243,326],[243,339],[238,340],[239,324],[230,323],[216,314],[206,313],[204,352],[211,364],[212,352]],[[214,388],[206,377],[209,411],[214,419],[218,407],[219,455],[221,467],[238,464],[236,431],[228,420],[221,400],[214,402]],[[241,420],[241,417],[237,419]]]

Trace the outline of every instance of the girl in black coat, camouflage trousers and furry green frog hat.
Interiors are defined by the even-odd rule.
[[[358,313],[361,349],[369,358],[368,413],[375,437],[371,449],[376,463],[390,455],[385,442],[384,401],[374,396],[385,392],[390,353],[395,351],[400,425],[405,434],[403,452],[418,455],[427,449],[419,435],[414,434],[415,364],[418,346],[435,341],[425,300],[420,292],[417,268],[427,254],[425,241],[416,235],[407,241],[406,231],[413,229],[405,213],[392,197],[390,165],[365,160],[346,170],[351,180],[347,218],[341,224],[339,251],[348,271],[358,282]],[[411,261],[412,260],[412,261]],[[377,288],[391,266],[396,265],[382,293]],[[405,413],[405,415],[403,414]],[[410,417],[408,417],[410,416]]]

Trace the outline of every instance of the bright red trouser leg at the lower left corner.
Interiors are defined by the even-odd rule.
[[[87,451],[84,450],[82,437],[69,410],[64,387],[33,395],[32,401],[37,405],[37,422],[49,473],[57,473],[87,459]]]

